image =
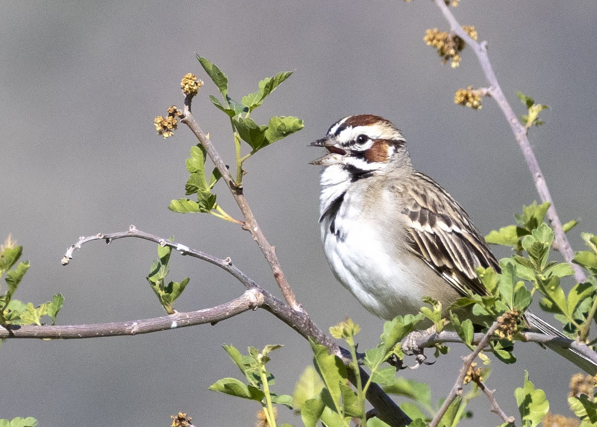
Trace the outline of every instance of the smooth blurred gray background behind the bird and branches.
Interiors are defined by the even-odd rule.
[[[531,142],[563,221],[571,232],[597,231],[595,184],[597,3],[463,0],[461,24],[487,40],[506,96],[521,114],[521,90],[551,106]],[[429,1],[310,2],[3,2],[0,14],[0,238],[9,233],[32,263],[17,297],[35,303],[64,294],[61,324],[125,321],[162,315],[145,280],[155,244],[124,239],[86,245],[60,266],[80,235],[123,231],[130,224],[216,256],[232,257],[252,278],[278,293],[247,232],[207,214],[168,211],[184,196],[184,159],[196,143],[181,127],[164,141],[153,118],[181,105],[181,76],[204,79],[193,112],[233,161],[230,127],[208,94],[217,90],[195,59],[218,64],[240,99],[259,79],[293,70],[263,107],[296,115],[303,131],[246,163],[245,194],[304,308],[327,329],[346,316],[362,325],[361,349],[376,345],[382,322],[338,284],[319,242],[318,174],[307,162],[321,155],[307,144],[337,119],[376,113],[407,137],[414,165],[438,180],[482,232],[512,223],[537,198],[525,161],[498,107],[480,111],[453,103],[454,91],[485,80],[472,51],[461,66],[440,63],[423,42],[425,29],[447,29]],[[224,189],[219,201],[238,210]],[[507,256],[507,251],[498,252]],[[214,266],[173,256],[172,278],[191,277],[176,305],[207,308],[242,293]],[[310,363],[307,342],[264,311],[215,326],[136,337],[2,344],[0,418],[34,416],[43,426],[166,426],[179,410],[196,425],[252,426],[256,404],[208,391],[237,376],[221,344],[282,343],[270,369],[275,391],[291,394]],[[570,414],[567,384],[576,369],[533,345],[519,345],[518,364],[493,362],[488,386],[509,414],[513,389],[530,371],[552,410]],[[456,379],[463,349],[407,377],[430,382],[433,398]],[[498,425],[485,398],[472,405],[469,425]],[[280,419],[300,425],[290,411]],[[464,423],[466,425],[466,423]]]

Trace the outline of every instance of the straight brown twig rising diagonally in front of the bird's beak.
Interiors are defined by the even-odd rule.
[[[284,295],[284,299],[294,310],[303,311],[303,308],[300,306],[300,304],[298,304],[296,296],[294,296],[294,292],[291,289],[290,284],[288,284],[284,272],[282,271],[282,267],[278,261],[278,256],[276,256],[275,248],[270,245],[269,242],[267,242],[265,235],[263,232],[261,232],[261,228],[257,224],[257,220],[253,215],[253,211],[251,211],[247,199],[242,193],[242,185],[238,185],[234,182],[232,177],[230,177],[229,171],[226,168],[226,164],[224,164],[220,154],[214,148],[210,138],[201,130],[195,121],[195,118],[191,114],[191,101],[192,96],[187,95],[187,97],[184,99],[183,118],[180,119],[180,122],[186,124],[193,134],[195,134],[201,145],[204,146],[207,155],[210,156],[211,161],[213,161],[214,165],[216,165],[216,168],[218,168],[220,171],[226,186],[232,193],[236,204],[238,204],[238,207],[241,209],[241,212],[245,218],[244,228],[251,233],[254,241],[257,242],[261,252],[263,252],[265,259],[272,269],[273,277],[276,279],[276,282],[282,291],[282,295]]]

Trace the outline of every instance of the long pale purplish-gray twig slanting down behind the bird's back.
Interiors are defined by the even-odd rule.
[[[485,73],[485,78],[487,78],[487,81],[490,84],[489,93],[491,97],[496,100],[497,105],[504,113],[504,116],[506,116],[506,120],[510,124],[510,128],[512,128],[512,132],[516,137],[516,142],[518,142],[518,145],[522,150],[522,154],[527,161],[527,166],[531,171],[531,175],[533,176],[539,197],[541,198],[542,202],[549,202],[550,204],[549,209],[547,210],[547,218],[549,218],[549,221],[552,224],[553,233],[555,234],[554,247],[562,254],[564,260],[568,262],[574,269],[574,277],[576,278],[576,281],[586,281],[586,276],[584,275],[580,266],[572,262],[572,259],[574,258],[574,251],[572,250],[570,242],[568,241],[564,229],[562,228],[562,222],[559,219],[558,213],[556,212],[552,196],[549,193],[549,188],[547,188],[545,177],[541,172],[541,168],[539,167],[539,163],[537,162],[533,148],[531,148],[531,143],[528,140],[527,131],[516,117],[516,113],[512,109],[512,106],[510,106],[508,103],[503,91],[501,90],[500,84],[497,81],[496,74],[493,71],[493,67],[491,66],[487,53],[487,42],[478,43],[470,38],[466,31],[462,29],[460,23],[458,23],[456,17],[454,17],[450,8],[448,8],[448,6],[445,4],[444,0],[433,1],[435,1],[435,4],[442,11],[442,14],[444,14],[444,17],[448,23],[450,23],[451,32],[463,39],[466,44],[469,45],[473,51],[475,51],[475,55],[479,60],[479,64],[481,64],[481,68]]]

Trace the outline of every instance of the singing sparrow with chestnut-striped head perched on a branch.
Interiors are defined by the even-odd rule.
[[[310,143],[324,156],[319,223],[334,276],[377,317],[416,314],[423,297],[448,308],[472,293],[488,295],[476,268],[500,265],[466,211],[417,171],[401,131],[372,114],[344,117]],[[527,330],[563,337],[532,312]],[[549,344],[547,345],[549,346]],[[572,349],[558,352],[592,375],[597,365]]]

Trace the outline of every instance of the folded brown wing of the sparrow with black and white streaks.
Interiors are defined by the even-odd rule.
[[[487,294],[475,268],[491,266],[499,272],[496,257],[452,196],[428,176],[416,175],[418,185],[402,194],[411,250],[461,295],[466,289]]]

